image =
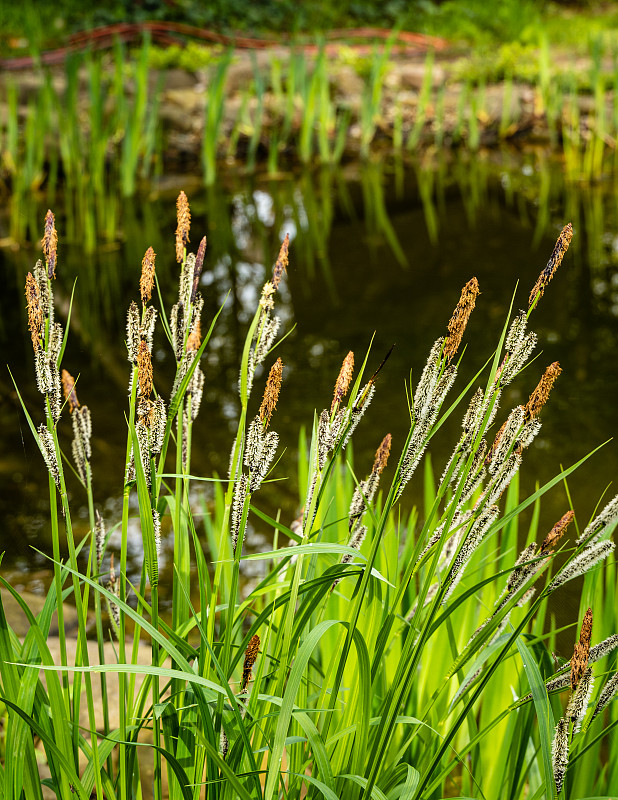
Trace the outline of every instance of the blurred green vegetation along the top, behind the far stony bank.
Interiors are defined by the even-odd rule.
[[[67,34],[117,22],[159,20],[255,34],[317,33],[332,28],[399,26],[487,47],[496,42],[581,45],[587,36],[618,28],[613,2],[543,0],[37,0],[0,8],[4,53],[45,49]]]

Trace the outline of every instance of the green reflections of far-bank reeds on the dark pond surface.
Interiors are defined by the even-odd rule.
[[[507,160],[508,154],[504,158]],[[231,259],[231,263],[239,260],[264,263],[277,236],[289,230],[294,236],[295,252],[304,266],[297,281],[303,295],[314,296],[315,287],[319,285],[328,293],[330,301],[336,303],[337,280],[329,258],[336,216],[363,219],[371,250],[385,243],[393,258],[402,265],[407,263],[389,216],[389,206],[396,198],[397,186],[401,192],[410,172],[405,172],[400,162],[394,173],[392,177],[389,165],[379,162],[359,166],[354,174],[348,170],[347,178],[336,168],[326,167],[316,173],[303,172],[298,178],[256,181],[253,187],[265,192],[271,204],[270,218],[251,211],[243,223],[248,236],[244,243],[239,239],[238,214],[246,214],[247,209],[255,206],[253,190],[247,190],[246,182],[240,187],[233,177],[227,185],[216,183],[206,192],[195,195],[193,201],[194,213],[205,220],[205,229],[212,239],[209,263],[217,263],[221,258]],[[615,195],[602,184],[577,186],[565,181],[561,171],[541,156],[528,158],[523,172],[519,161],[508,166],[507,160],[505,167],[499,162],[494,164],[483,154],[477,158],[461,154],[454,162],[431,160],[426,156],[415,164],[414,176],[413,185],[434,244],[446,229],[448,191],[456,189],[472,227],[478,212],[488,206],[490,185],[495,186],[500,179],[505,202],[513,206],[524,225],[534,226],[536,243],[551,235],[556,224],[556,209],[564,209],[564,214],[559,212],[561,217],[572,219],[578,230],[586,231],[586,235],[576,237],[573,251],[577,253],[580,248],[587,248],[593,274],[602,271],[607,263],[602,242],[606,229],[613,230]],[[360,189],[360,194],[355,192],[355,187]],[[89,251],[86,263],[81,259],[73,261],[72,256],[68,256],[65,277],[70,275],[70,278],[67,278],[64,293],[70,294],[72,280],[77,277],[80,309],[89,320],[88,325],[83,326],[83,335],[94,331],[95,338],[104,337],[106,326],[115,319],[119,297],[126,291],[126,265],[141,260],[137,246],[140,235],[148,236],[155,251],[164,248],[162,220],[169,213],[162,200],[122,201],[113,191],[95,194],[83,181],[72,190],[65,189],[62,195],[56,192],[56,197],[61,197],[64,205],[60,216],[66,230],[65,246],[77,248],[80,242],[86,242]],[[233,202],[230,197],[235,198]],[[11,224],[18,224],[24,235],[29,232],[30,238],[36,240],[37,220],[46,207],[46,198],[16,193],[8,209]],[[313,224],[309,224],[310,220]],[[124,263],[118,257],[120,248]],[[81,247],[79,250],[81,252]],[[165,280],[163,271],[161,277]]]

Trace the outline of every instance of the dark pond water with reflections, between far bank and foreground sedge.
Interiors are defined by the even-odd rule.
[[[510,160],[509,160],[510,159]],[[288,476],[265,491],[262,503],[290,521],[298,512],[294,453],[299,425],[311,425],[314,409],[330,403],[342,358],[354,350],[360,361],[373,345],[369,368],[393,343],[370,412],[355,437],[359,472],[371,464],[385,433],[400,447],[407,431],[405,382],[418,376],[433,341],[445,330],[462,285],[476,275],[481,292],[466,333],[467,351],[459,386],[492,353],[517,282],[515,307],[526,303],[560,228],[572,221],[569,253],[532,317],[542,354],[510,387],[504,414],[525,401],[546,364],[563,367],[543,414],[543,429],[527,452],[522,487],[534,489],[611,438],[618,428],[618,214],[615,187],[565,185],[559,165],[539,154],[514,160],[494,155],[452,159],[431,167],[369,164],[342,170],[265,177],[230,176],[216,189],[199,189],[194,178],[166,178],[128,201],[58,198],[53,204],[60,236],[56,295],[66,309],[77,278],[76,305],[64,366],[80,374],[79,397],[93,419],[95,499],[109,527],[120,519],[126,427],[128,362],[124,320],[138,297],[141,259],[152,245],[164,303],[174,302],[175,198],[187,191],[196,248],[208,236],[202,292],[203,320],[225,301],[205,357],[206,390],[195,429],[195,474],[225,474],[235,430],[240,352],[259,291],[270,274],[284,233],[289,232],[290,267],[277,311],[285,330],[296,325],[279,349],[284,387],[275,428],[288,447],[279,474]],[[0,336],[10,366],[35,420],[41,417],[27,333],[23,285],[38,251],[48,198],[14,199],[0,217]],[[11,231],[30,239],[17,248]],[[32,243],[34,242],[34,244]],[[227,298],[227,300],[226,300]],[[169,393],[174,369],[159,329],[155,381]],[[0,550],[4,574],[19,586],[42,590],[49,562],[47,480],[31,440],[8,370],[0,373]],[[66,415],[65,415],[66,416]],[[456,415],[457,417],[459,415]],[[447,425],[432,450],[441,471],[458,435],[458,419]],[[61,436],[70,451],[70,425]],[[570,482],[576,512],[585,523],[607,485],[618,474],[618,445],[607,444]],[[81,532],[87,529],[86,499],[71,485]],[[615,488],[614,488],[615,491]],[[407,503],[420,501],[419,479]],[[547,496],[542,525],[549,528],[567,508],[564,489]],[[259,533],[259,531],[258,531]],[[141,565],[134,531],[132,568]],[[170,543],[171,545],[171,543]],[[167,551],[168,570],[171,550]]]

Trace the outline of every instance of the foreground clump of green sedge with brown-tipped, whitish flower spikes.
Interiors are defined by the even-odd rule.
[[[40,412],[24,412],[48,471],[54,581],[35,617],[0,577],[4,796],[42,797],[40,761],[57,796],[83,800],[151,790],[182,800],[605,795],[616,769],[607,761],[608,748],[615,750],[608,734],[618,725],[610,702],[618,685],[611,541],[618,499],[575,514],[568,481],[588,456],[528,496],[518,483],[544,406],[564,380],[554,388],[557,362],[544,372],[529,363],[537,343],[529,325],[572,227],[563,229],[529,297],[517,298],[527,310],[509,314],[495,351],[454,389],[479,297],[476,278],[468,281],[446,335],[416,385],[407,386],[405,440],[393,441],[386,421],[373,420],[373,464],[354,463],[351,440],[371,419],[389,354],[380,361],[368,352],[359,366],[348,353],[332,397],[320,403],[324,410],[299,432],[298,516],[289,520],[260,508],[264,484],[276,489],[292,463],[279,452],[277,433],[290,379],[282,363],[287,331],[276,315],[288,238],[242,347],[229,474],[207,479],[192,473],[191,454],[205,381],[200,361],[220,311],[202,320],[206,238],[197,254],[187,251],[184,193],[177,212],[177,302],[155,308],[149,248],[139,301],[127,314],[119,544],[112,546],[97,516],[90,413],[78,400],[92,390],[63,368],[66,333],[54,320],[53,300],[62,264],[51,212],[45,263],[27,278],[45,421],[37,427]],[[176,363],[171,390],[159,385],[151,356],[159,339]],[[525,404],[501,410],[524,368],[538,372],[536,389]],[[434,465],[426,453],[452,415],[463,417],[461,433],[446,463]],[[69,419],[72,457],[58,439]],[[82,501],[69,497],[66,469],[75,470],[87,500],[90,529],[81,542],[72,513]],[[192,490],[203,480],[213,481],[214,499],[198,506]],[[412,480],[424,485],[422,510],[401,505]],[[560,486],[565,513],[547,531],[540,501]],[[143,548],[138,583],[127,579],[134,528]],[[257,529],[272,533],[270,549],[250,546]],[[163,537],[174,542],[171,618],[159,611]],[[248,586],[243,565],[256,561],[264,569]],[[556,663],[550,602],[581,575],[580,614],[569,631],[573,641],[579,633],[578,646],[570,662],[569,652]],[[23,640],[6,620],[7,594],[27,618]],[[77,611],[75,650],[63,626],[66,602]],[[95,651],[86,638],[89,609]],[[48,641],[53,612],[58,658]],[[143,771],[140,752],[149,752],[152,772]]]

